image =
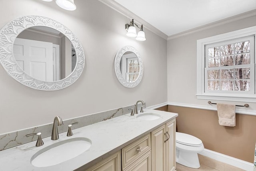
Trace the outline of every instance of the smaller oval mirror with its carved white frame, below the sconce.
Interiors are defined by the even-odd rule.
[[[132,46],[124,46],[115,57],[115,72],[119,82],[125,87],[137,86],[143,76],[143,62],[139,52]]]

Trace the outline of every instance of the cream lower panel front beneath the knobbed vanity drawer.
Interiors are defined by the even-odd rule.
[[[124,171],[151,171],[151,150],[124,169]]]

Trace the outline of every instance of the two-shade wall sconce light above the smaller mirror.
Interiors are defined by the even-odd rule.
[[[140,31],[138,32],[138,35],[136,33],[136,28],[135,28],[134,25],[137,26],[140,29]],[[146,40],[145,33],[143,31],[143,24],[141,24],[141,27],[139,27],[136,23],[133,22],[133,19],[132,19],[130,24],[125,24],[125,29],[127,31],[126,36],[132,37],[132,38],[136,37],[136,40],[139,40],[139,41],[145,41]]]

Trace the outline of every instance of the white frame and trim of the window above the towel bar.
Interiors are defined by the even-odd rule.
[[[250,46],[250,50],[253,50],[254,64],[251,66],[254,72],[250,74],[251,80],[254,79],[254,85],[250,86],[251,93],[244,92],[210,92],[205,90],[205,46],[208,44],[214,44],[218,42],[228,41],[232,39],[242,38],[246,36],[254,36],[254,47]],[[197,40],[197,93],[198,99],[213,99],[213,100],[225,100],[225,101],[244,101],[244,102],[254,102],[256,103],[256,67],[255,67],[255,36],[256,36],[256,26],[245,28],[242,30],[236,30],[234,32],[229,32],[225,34],[220,34],[217,36],[212,36],[209,38],[204,38]]]

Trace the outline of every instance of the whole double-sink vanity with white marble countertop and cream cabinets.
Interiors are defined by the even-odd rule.
[[[177,113],[145,109],[144,113],[131,116],[130,113],[74,129],[73,136],[66,132],[59,134],[58,140],[51,137],[43,139],[44,145],[36,147],[30,142],[17,147],[0,151],[1,170],[27,171],[173,171],[175,169],[175,132]],[[66,146],[70,142],[86,141],[88,149],[81,154],[50,164],[44,159],[41,166],[33,165],[40,154],[60,147],[64,155],[72,151],[82,151],[83,147],[73,145],[71,150]],[[70,143],[71,144],[71,143]],[[70,146],[71,147],[71,146]],[[76,149],[78,148],[78,149]],[[53,157],[55,154],[50,154]]]

